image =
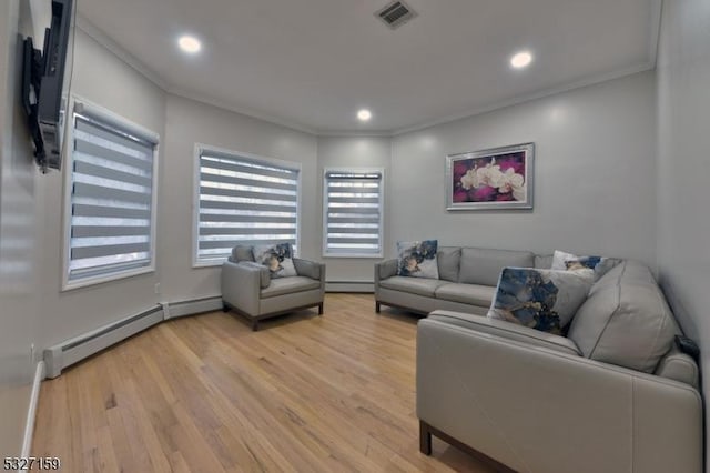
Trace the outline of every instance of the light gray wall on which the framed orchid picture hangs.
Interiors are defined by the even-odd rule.
[[[532,211],[445,210],[445,157],[535,142]],[[619,255],[656,264],[655,81],[643,72],[395,137],[397,240]]]

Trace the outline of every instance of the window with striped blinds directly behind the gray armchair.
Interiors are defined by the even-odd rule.
[[[237,244],[291,243],[298,234],[293,163],[199,148],[195,265],[221,264]]]

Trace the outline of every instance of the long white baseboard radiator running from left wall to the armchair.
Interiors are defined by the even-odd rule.
[[[68,366],[105,350],[164,320],[222,309],[222,298],[211,296],[180,302],[161,302],[154,308],[106,324],[44,350],[47,378],[57,378]]]

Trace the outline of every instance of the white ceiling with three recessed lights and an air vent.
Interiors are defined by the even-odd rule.
[[[78,0],[85,29],[166,90],[321,134],[396,133],[656,60],[660,0],[407,0],[418,17],[394,31],[374,16],[386,3]],[[184,33],[199,56],[178,50]],[[513,70],[520,49],[535,61]]]

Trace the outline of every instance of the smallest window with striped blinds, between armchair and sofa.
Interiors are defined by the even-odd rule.
[[[324,256],[382,256],[383,174],[377,170],[325,170]]]

